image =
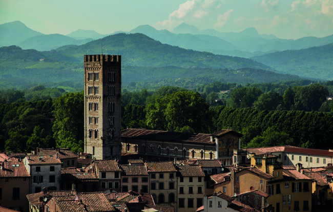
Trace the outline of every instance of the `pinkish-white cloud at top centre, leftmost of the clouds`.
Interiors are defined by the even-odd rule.
[[[182,22],[193,22],[209,15],[221,7],[221,0],[189,0],[179,5],[169,18],[154,24],[156,29],[172,30]]]

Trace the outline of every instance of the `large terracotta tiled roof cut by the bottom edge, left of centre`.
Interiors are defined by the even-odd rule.
[[[76,196],[78,197],[77,201],[74,199],[75,195],[54,196],[53,198],[57,201],[62,212],[115,210],[102,192],[76,193]],[[81,203],[78,204],[79,202]]]

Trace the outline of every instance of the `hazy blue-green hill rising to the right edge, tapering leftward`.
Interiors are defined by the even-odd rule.
[[[303,77],[333,80],[333,43],[321,47],[274,52],[252,59],[277,71]]]

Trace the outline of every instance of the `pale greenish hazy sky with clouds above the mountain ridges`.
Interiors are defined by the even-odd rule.
[[[147,24],[172,31],[185,22],[200,30],[255,27],[259,34],[297,39],[333,34],[333,0],[0,0],[0,24],[15,20],[45,34],[109,34]]]

